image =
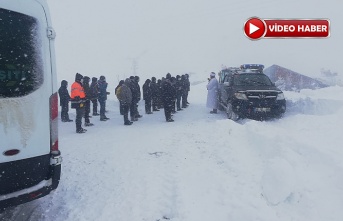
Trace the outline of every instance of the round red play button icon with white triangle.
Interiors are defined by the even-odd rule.
[[[251,40],[258,40],[263,37],[265,30],[264,21],[256,17],[248,19],[244,24],[244,33]]]

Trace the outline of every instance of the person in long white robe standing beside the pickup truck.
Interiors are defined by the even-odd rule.
[[[216,74],[211,72],[208,80],[206,107],[213,109],[210,111],[211,114],[216,114],[218,108],[218,80],[216,79]]]

